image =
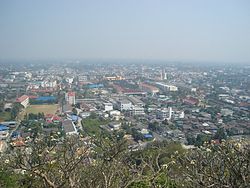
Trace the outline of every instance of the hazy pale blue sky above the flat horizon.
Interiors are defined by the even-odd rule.
[[[0,59],[250,62],[250,0],[1,0]]]

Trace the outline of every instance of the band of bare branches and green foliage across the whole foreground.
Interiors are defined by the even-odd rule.
[[[89,120],[88,120],[89,121]],[[250,186],[250,149],[245,142],[185,150],[176,142],[152,142],[129,151],[126,140],[100,134],[90,140],[50,136],[5,155],[1,187],[178,188]],[[5,161],[4,158],[1,159]],[[4,170],[3,170],[4,169]],[[17,170],[25,170],[24,175]]]

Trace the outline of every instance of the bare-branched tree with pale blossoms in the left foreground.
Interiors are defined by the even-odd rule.
[[[63,143],[50,139],[35,139],[27,149],[17,149],[8,155],[12,169],[25,171],[39,186],[31,187],[76,187],[80,181],[83,164],[88,164],[89,147],[77,137],[66,138]]]

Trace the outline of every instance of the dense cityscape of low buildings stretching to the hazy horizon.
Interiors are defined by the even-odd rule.
[[[250,135],[250,67],[24,63],[1,67],[1,152],[34,135],[104,132],[133,150],[152,141],[200,146]]]

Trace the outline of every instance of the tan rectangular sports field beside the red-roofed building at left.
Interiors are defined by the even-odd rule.
[[[26,113],[33,113],[38,114],[44,113],[44,114],[55,114],[58,109],[57,104],[49,104],[49,105],[30,105],[26,108]]]

